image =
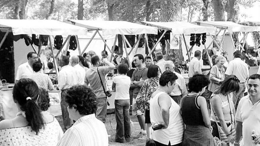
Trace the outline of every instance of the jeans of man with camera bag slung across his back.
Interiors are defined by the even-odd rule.
[[[105,123],[105,118],[107,115],[107,98],[102,97],[97,99],[97,111],[96,118]]]

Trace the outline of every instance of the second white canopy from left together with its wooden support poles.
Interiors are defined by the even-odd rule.
[[[105,43],[105,46],[110,51],[111,56],[113,56],[118,35],[121,35],[130,68],[131,68],[131,64],[129,61],[129,55],[132,52],[132,50],[135,48],[135,46],[139,45],[139,41],[142,37],[142,34],[157,34],[158,31],[156,27],[150,27],[150,26],[145,26],[145,25],[126,22],[126,21],[68,20],[67,22],[77,26],[85,27],[88,30],[95,30],[95,33],[93,34],[92,38],[87,43],[86,47],[83,49],[81,54],[85,52],[92,39],[98,33],[100,38]],[[105,42],[105,38],[111,35],[116,35],[112,50]],[[131,46],[128,40],[126,39],[125,35],[139,35],[139,37],[137,41],[134,43],[134,45]],[[126,43],[131,48],[129,52],[127,52],[126,50]],[[112,61],[112,57],[110,58],[110,62],[111,61]]]

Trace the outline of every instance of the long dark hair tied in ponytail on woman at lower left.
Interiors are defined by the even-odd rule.
[[[25,111],[26,120],[36,134],[44,128],[44,120],[40,108],[36,104],[38,95],[38,86],[30,78],[22,78],[14,84],[14,101],[21,106],[22,111]],[[31,99],[27,99],[27,97]]]

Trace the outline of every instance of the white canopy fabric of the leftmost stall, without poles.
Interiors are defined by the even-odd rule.
[[[14,35],[87,35],[87,29],[56,20],[0,19],[0,29],[12,28]]]

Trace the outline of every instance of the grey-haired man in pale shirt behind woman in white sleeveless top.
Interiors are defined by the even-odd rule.
[[[169,70],[175,73],[178,76],[178,79],[176,80],[176,84],[174,86],[173,91],[170,93],[171,98],[180,105],[181,103],[181,98],[186,95],[187,93],[187,88],[185,84],[185,80],[183,76],[177,72],[174,71],[175,65],[173,61],[168,60],[165,62],[164,69],[165,71]]]

